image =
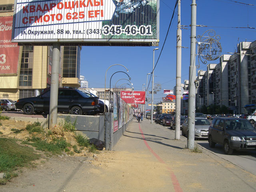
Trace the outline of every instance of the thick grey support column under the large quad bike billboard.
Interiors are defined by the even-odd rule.
[[[49,111],[49,129],[57,124],[58,111],[58,86],[59,86],[59,68],[60,68],[60,44],[53,44],[52,52],[52,75],[50,89],[50,111]]]

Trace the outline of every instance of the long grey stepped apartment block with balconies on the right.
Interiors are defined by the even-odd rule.
[[[222,55],[219,64],[208,64],[197,79],[197,108],[201,101],[206,106],[225,105],[232,114],[251,113],[256,109],[256,41],[240,42],[236,53]]]

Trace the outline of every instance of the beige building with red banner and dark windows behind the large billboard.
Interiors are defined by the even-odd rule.
[[[14,0],[0,2],[0,98],[37,96],[51,84],[52,46],[11,42]],[[3,30],[4,29],[4,30]],[[62,46],[59,86],[80,87],[79,46]]]

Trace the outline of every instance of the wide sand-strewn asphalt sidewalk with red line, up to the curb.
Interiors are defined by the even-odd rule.
[[[17,123],[22,124],[13,122],[14,126]],[[184,148],[184,139],[173,140],[169,133],[163,126],[150,127],[147,122],[138,127],[135,120],[114,151],[84,153],[83,156],[43,156],[36,168],[23,168],[17,178],[0,186],[0,191],[256,191],[255,175],[206,150],[193,153]]]

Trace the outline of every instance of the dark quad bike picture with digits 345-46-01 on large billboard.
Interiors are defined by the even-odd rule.
[[[111,21],[103,22],[103,34],[109,38],[156,38],[157,0],[114,0],[116,10]]]

